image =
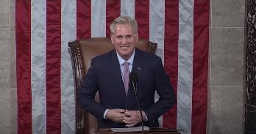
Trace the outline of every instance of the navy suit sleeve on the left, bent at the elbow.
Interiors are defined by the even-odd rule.
[[[103,119],[106,108],[94,100],[98,89],[96,66],[92,60],[90,69],[85,78],[83,78],[82,86],[78,90],[77,100],[79,105],[85,108],[86,111],[92,113],[98,119]]]

